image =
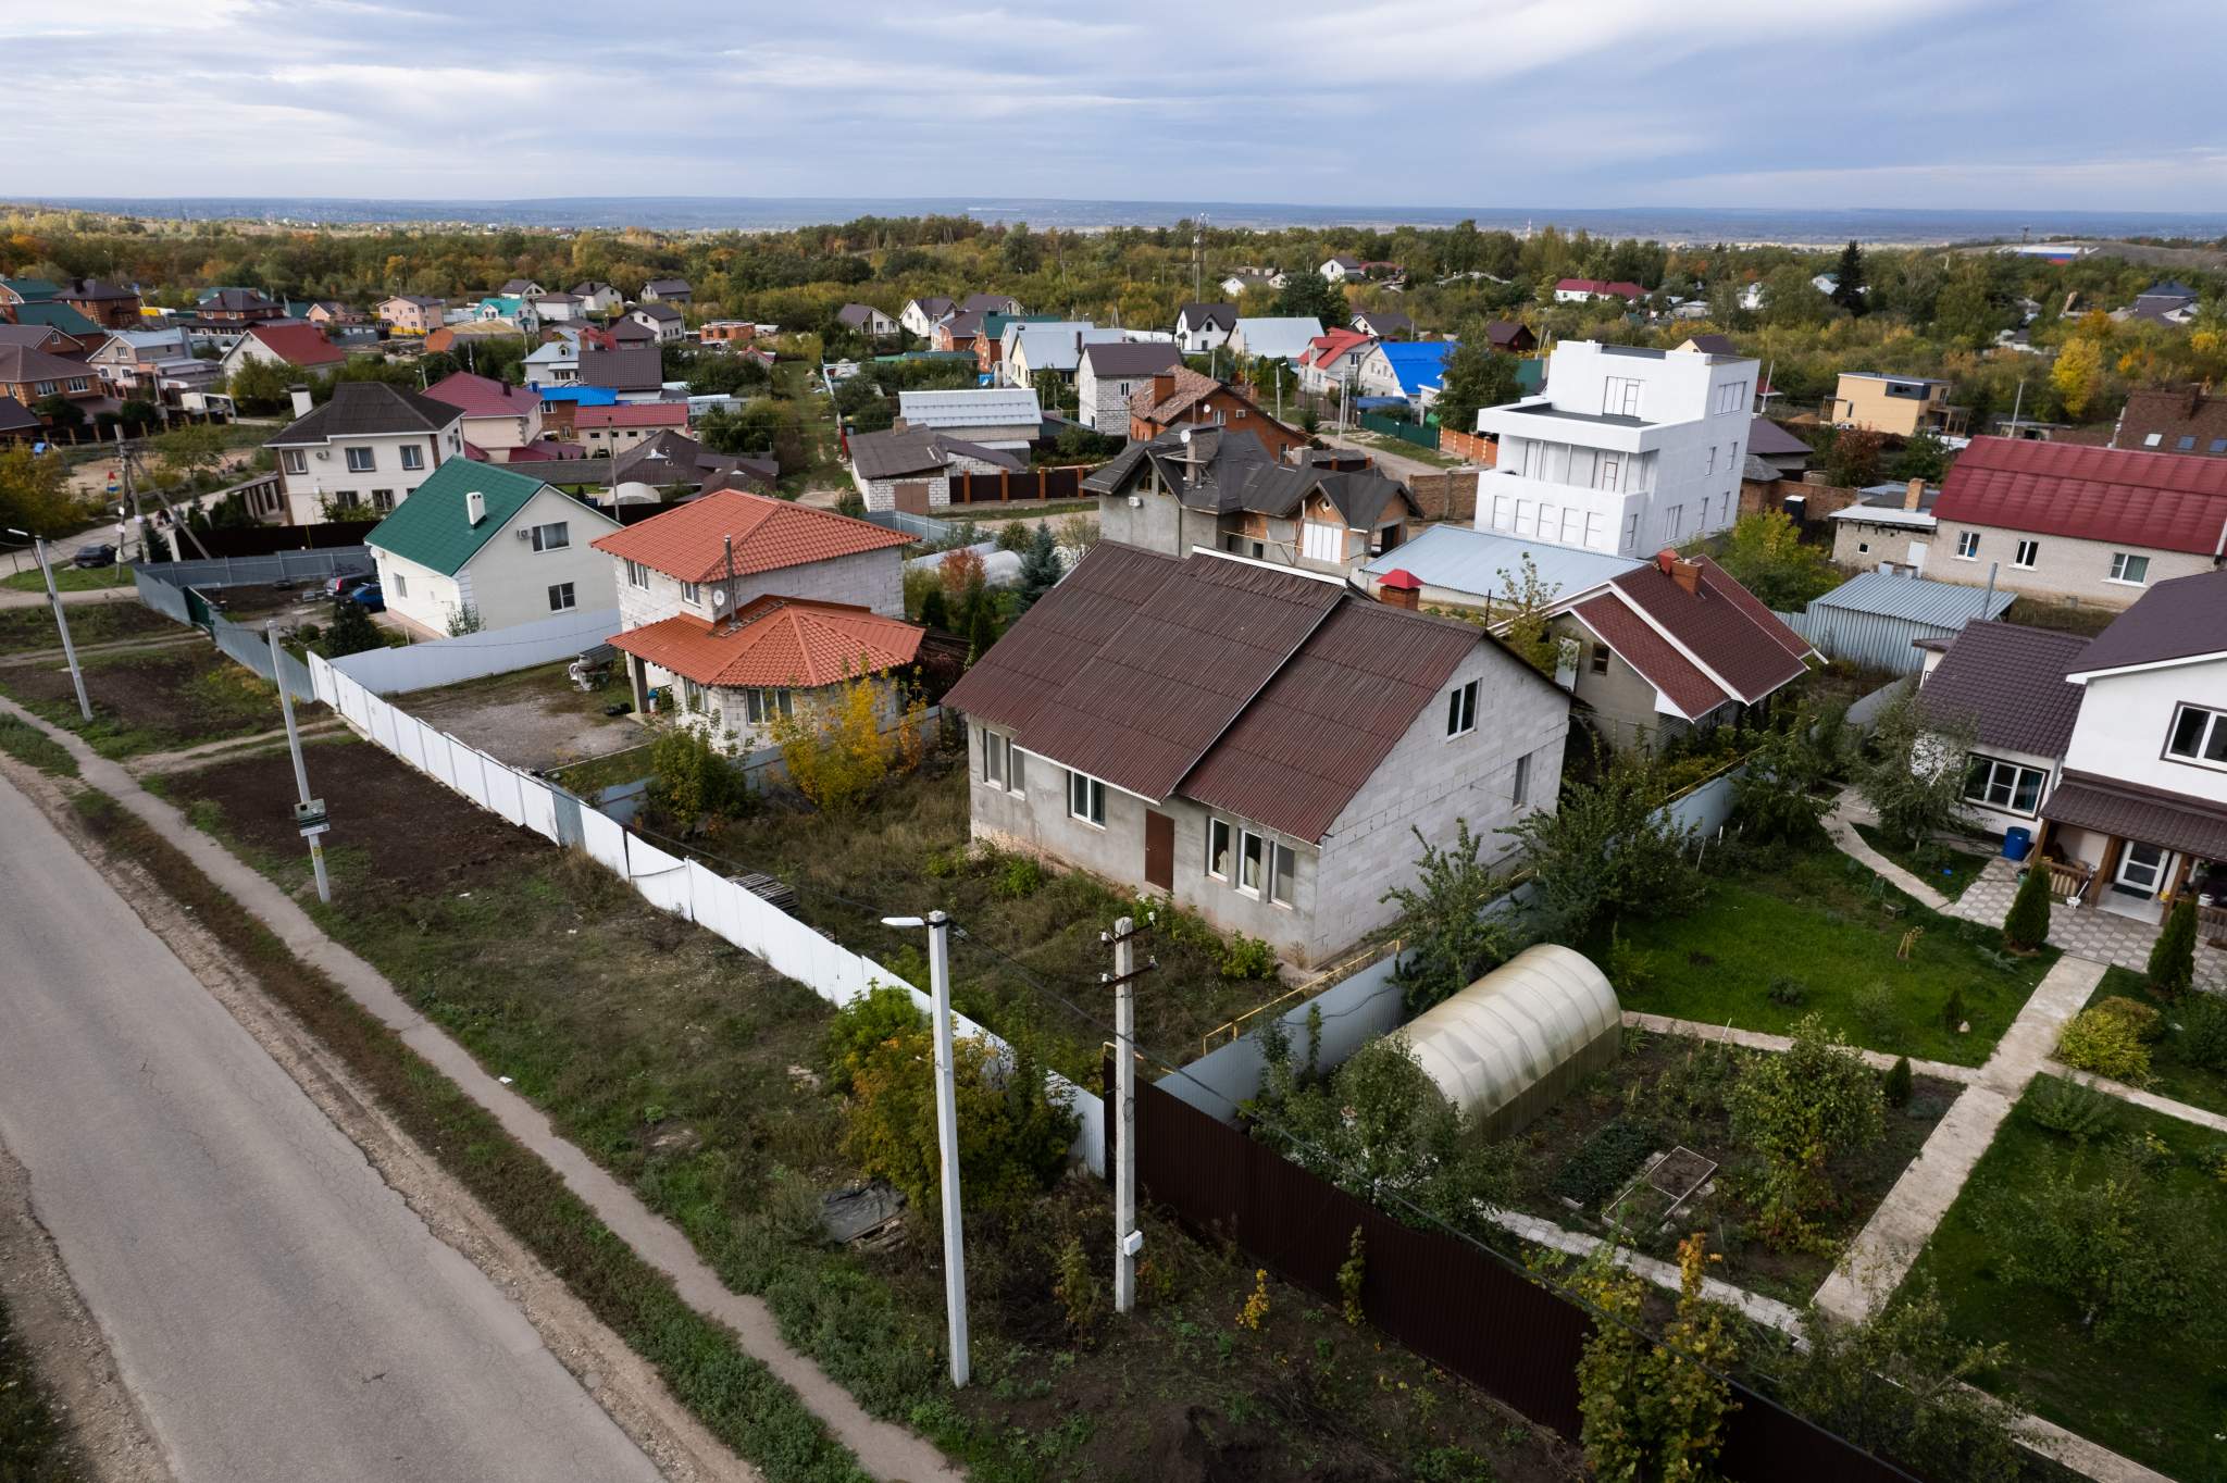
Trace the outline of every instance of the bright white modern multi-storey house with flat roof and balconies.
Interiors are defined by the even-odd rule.
[[[1537,365],[1537,361],[1532,361]],[[1563,341],[1546,392],[1477,412],[1477,528],[1646,557],[1737,517],[1757,363]]]

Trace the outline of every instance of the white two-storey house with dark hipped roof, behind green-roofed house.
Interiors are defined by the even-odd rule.
[[[294,421],[267,448],[290,526],[316,526],[327,508],[387,514],[463,456],[463,412],[385,381],[341,381],[318,407],[294,387]]]

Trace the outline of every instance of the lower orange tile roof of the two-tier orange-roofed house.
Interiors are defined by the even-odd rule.
[[[924,632],[848,603],[757,597],[733,623],[681,612],[615,632],[610,644],[699,686],[815,690],[911,664]]]

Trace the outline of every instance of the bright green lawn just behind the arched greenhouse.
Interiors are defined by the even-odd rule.
[[[1621,995],[1626,1009],[1768,1033],[1822,1013],[1860,1047],[1964,1067],[1989,1058],[2056,962],[2056,951],[2000,957],[1995,929],[1926,911],[1831,848],[1719,880],[1701,909],[1619,933],[1655,969],[1648,989]],[[1588,949],[1608,962],[1608,929]],[[1944,1022],[1951,991],[1971,1033]]]

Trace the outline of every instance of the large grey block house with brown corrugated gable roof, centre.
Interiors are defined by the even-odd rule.
[[[1459,824],[1554,806],[1568,697],[1472,623],[1100,541],[944,695],[969,831],[1301,966],[1383,929]]]

